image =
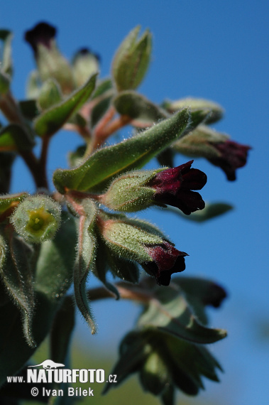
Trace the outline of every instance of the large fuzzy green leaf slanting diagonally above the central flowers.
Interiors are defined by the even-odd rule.
[[[58,169],[53,175],[55,187],[60,193],[65,193],[65,187],[104,190],[117,175],[143,167],[156,154],[179,139],[188,124],[189,112],[183,109],[120,144],[99,149],[75,169]]]

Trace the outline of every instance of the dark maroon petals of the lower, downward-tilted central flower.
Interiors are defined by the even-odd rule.
[[[169,242],[145,246],[146,251],[153,261],[143,264],[150,274],[155,276],[159,285],[169,286],[171,275],[185,270],[185,252],[175,249]]]

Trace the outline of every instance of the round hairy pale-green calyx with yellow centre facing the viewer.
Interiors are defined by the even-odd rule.
[[[11,217],[16,232],[31,243],[53,239],[60,226],[61,207],[47,195],[27,197]]]

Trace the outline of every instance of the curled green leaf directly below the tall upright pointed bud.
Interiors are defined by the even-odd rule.
[[[131,90],[120,92],[114,98],[113,103],[119,114],[136,119],[141,126],[151,126],[160,119],[170,116],[157,104],[153,104],[143,95]]]

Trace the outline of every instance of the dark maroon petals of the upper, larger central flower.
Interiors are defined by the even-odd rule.
[[[150,180],[148,185],[156,190],[153,196],[156,202],[173,205],[186,215],[204,208],[201,195],[192,190],[201,190],[207,183],[207,175],[198,169],[190,168],[192,162],[168,168]]]

